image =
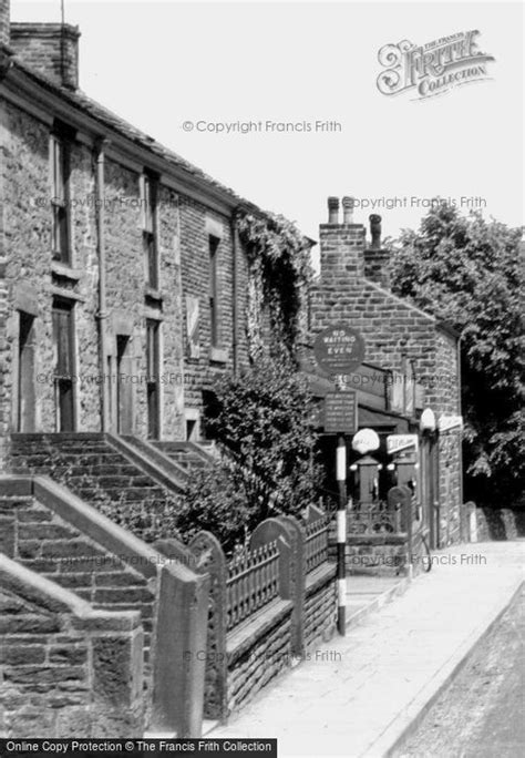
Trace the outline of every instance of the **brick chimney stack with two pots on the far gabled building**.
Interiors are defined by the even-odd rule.
[[[339,219],[339,198],[328,198],[328,223],[319,226],[321,277],[327,284],[349,284],[364,276],[364,226],[353,223],[352,197],[342,198],[343,217]]]

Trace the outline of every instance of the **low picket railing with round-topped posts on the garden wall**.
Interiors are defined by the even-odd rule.
[[[228,713],[228,643],[239,629],[265,618],[282,601],[290,606],[290,649],[300,655],[305,638],[305,597],[310,577],[331,568],[329,519],[316,505],[302,519],[277,516],[260,523],[247,546],[227,560],[218,540],[199,532],[188,547],[197,571],[210,577],[206,655],[205,716]],[[334,581],[334,571],[325,581]]]

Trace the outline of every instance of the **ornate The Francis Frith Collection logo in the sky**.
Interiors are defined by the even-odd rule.
[[[377,79],[379,91],[385,95],[413,91],[414,100],[424,100],[488,79],[487,63],[494,58],[477,49],[478,34],[472,30],[423,45],[408,40],[383,45],[378,53],[385,69]]]

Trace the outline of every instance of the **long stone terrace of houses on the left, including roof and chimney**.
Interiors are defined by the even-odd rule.
[[[1,12],[2,438],[199,439],[248,358],[235,217],[264,214],[90,100],[76,28]]]

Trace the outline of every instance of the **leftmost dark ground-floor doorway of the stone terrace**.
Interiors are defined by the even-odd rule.
[[[20,311],[18,339],[18,412],[17,430],[34,431],[34,317]]]

